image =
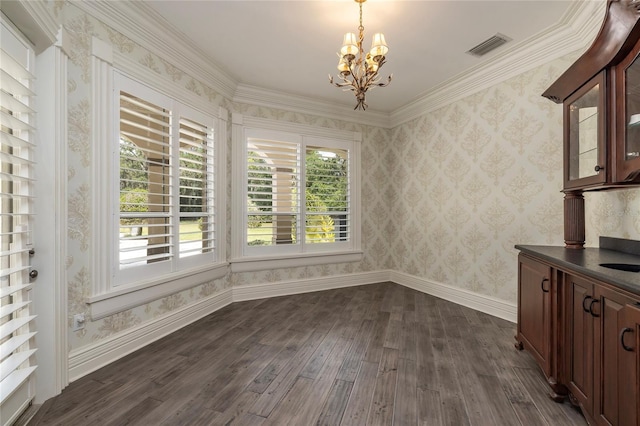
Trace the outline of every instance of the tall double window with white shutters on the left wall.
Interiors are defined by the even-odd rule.
[[[215,120],[116,74],[116,285],[216,260]]]

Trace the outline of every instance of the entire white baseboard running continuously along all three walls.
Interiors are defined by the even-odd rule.
[[[252,284],[224,290],[153,321],[145,322],[99,342],[71,351],[69,354],[69,380],[75,381],[233,302],[385,281],[391,281],[507,321],[516,322],[517,306],[515,304],[390,270]]]

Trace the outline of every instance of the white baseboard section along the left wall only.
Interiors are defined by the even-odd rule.
[[[221,309],[233,301],[231,289],[148,321],[69,353],[69,381],[73,382],[182,327]]]

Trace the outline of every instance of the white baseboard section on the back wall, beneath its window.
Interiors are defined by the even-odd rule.
[[[348,275],[280,281],[277,283],[243,285],[234,287],[233,301],[265,299],[268,297],[375,284],[384,281],[389,281],[389,271],[360,272]]]

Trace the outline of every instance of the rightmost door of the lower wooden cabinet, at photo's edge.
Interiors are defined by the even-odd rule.
[[[596,286],[592,307],[595,315],[595,389],[594,417],[604,425],[636,425],[636,420],[624,407],[629,396],[633,353],[620,341],[622,330],[629,324],[625,318],[627,304],[633,299],[614,290]],[[625,337],[631,340],[631,337]]]

